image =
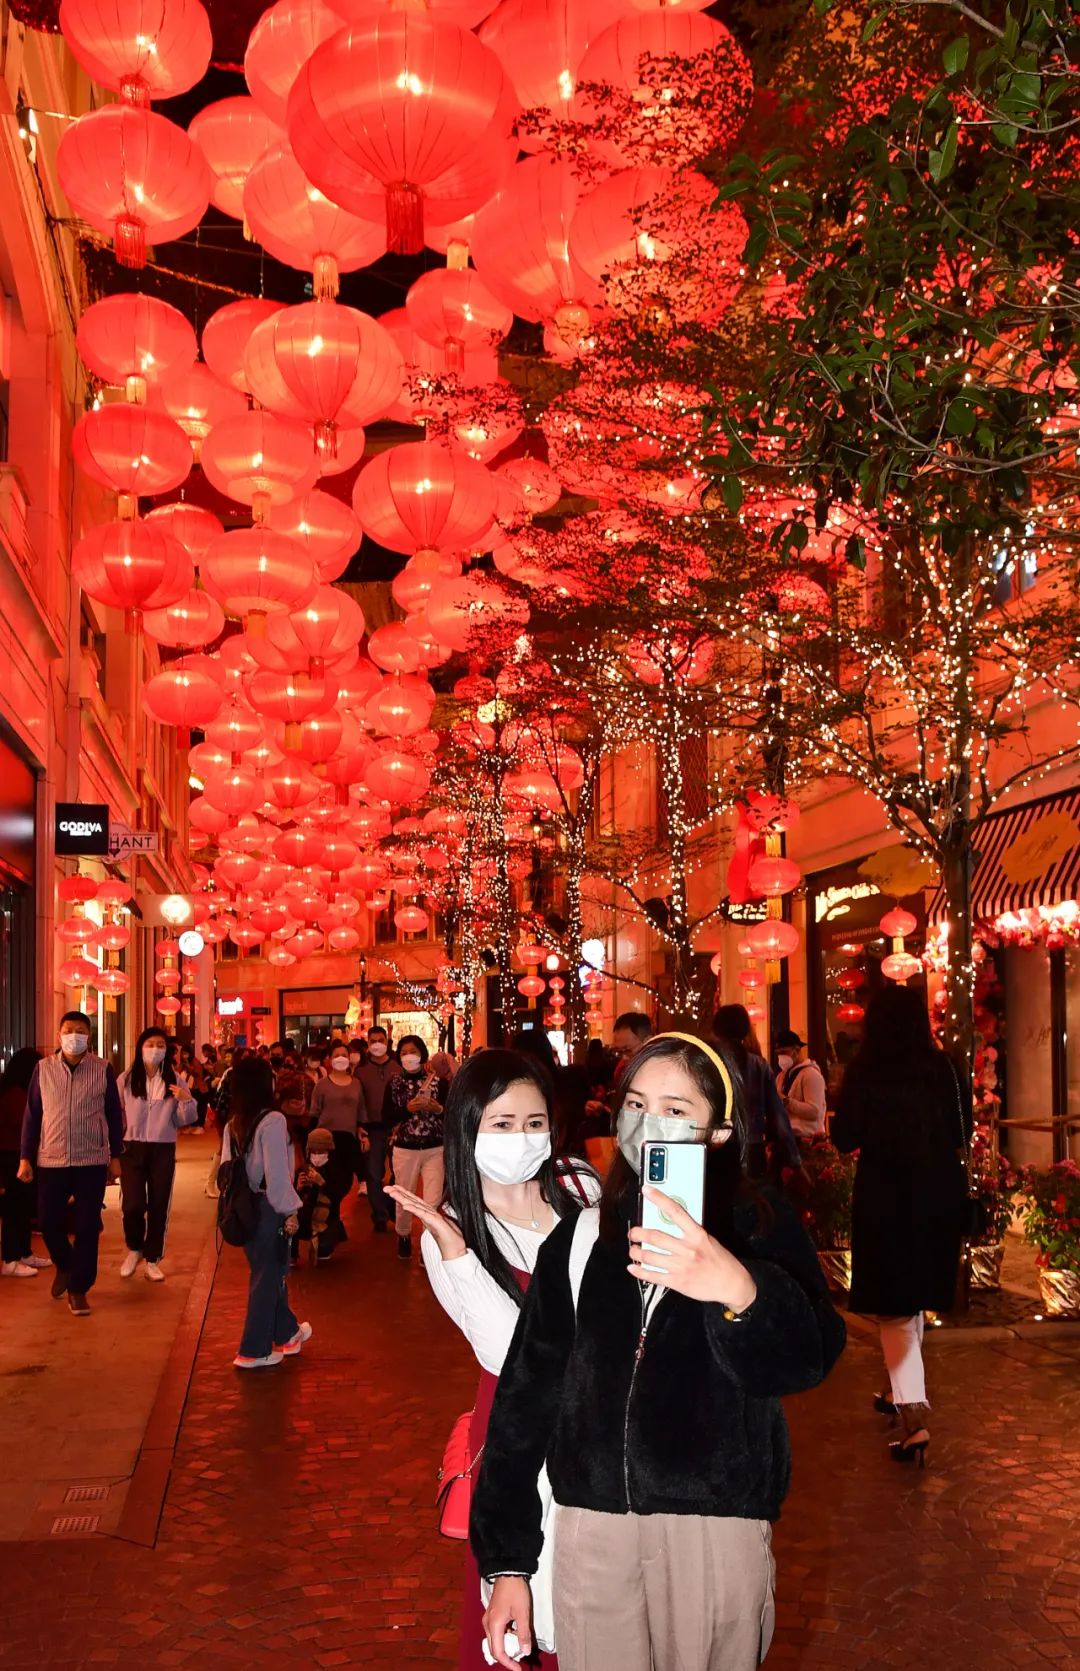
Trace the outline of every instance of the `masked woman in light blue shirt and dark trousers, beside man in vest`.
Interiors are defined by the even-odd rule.
[[[119,1084],[124,1106],[120,1203],[127,1243],[120,1277],[134,1277],[145,1260],[150,1282],[166,1280],[160,1260],[176,1178],[176,1135],[197,1118],[194,1096],[169,1066],[167,1044],[160,1028],[145,1028]]]

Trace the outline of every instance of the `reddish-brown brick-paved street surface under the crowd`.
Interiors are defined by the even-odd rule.
[[[145,1342],[145,1379],[164,1374],[122,1536],[7,1544],[5,1671],[456,1663],[461,1551],[436,1536],[431,1499],[475,1372],[420,1265],[400,1265],[393,1238],[371,1235],[363,1203],[349,1227],[331,1265],[304,1267],[293,1283],[311,1347],[267,1375],[231,1369],[246,1275],[232,1250],[202,1318],[197,1211],[171,1354],[142,1327],[142,1293],[137,1313],[120,1297],[139,1323],[132,1340]],[[174,1260],[177,1242],[174,1225]],[[176,1305],[169,1285],[145,1287],[154,1303]],[[30,1312],[0,1298],[5,1350],[18,1354]],[[22,1390],[12,1402],[12,1380],[0,1380],[7,1457],[15,1424],[25,1452],[47,1450],[64,1399],[85,1400],[89,1382],[120,1407],[119,1335],[105,1318],[102,1298],[79,1359],[75,1320],[59,1320],[69,1327],[57,1323],[50,1395],[37,1407]],[[935,1337],[930,1354],[936,1414],[923,1474],[884,1452],[866,1330],[824,1389],[791,1402],[796,1467],[776,1532],[771,1666],[1080,1663],[1080,1338]],[[137,1425],[132,1414],[124,1425]]]

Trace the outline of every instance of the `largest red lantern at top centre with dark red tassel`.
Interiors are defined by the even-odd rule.
[[[316,185],[326,177],[313,152],[331,170],[373,175],[390,249],[415,254],[425,185],[480,147],[503,100],[498,58],[475,35],[393,12],[316,47],[289,95],[289,137]]]

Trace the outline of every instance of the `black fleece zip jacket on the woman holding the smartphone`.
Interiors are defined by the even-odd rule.
[[[577,1318],[573,1218],[545,1242],[492,1410],[471,1509],[481,1572],[535,1572],[537,1475],[605,1514],[774,1521],[791,1450],[781,1397],[823,1380],[844,1345],[818,1255],[792,1210],[739,1203],[719,1237],[757,1285],[741,1317],[662,1293],[642,1337],[627,1247],[597,1242]]]

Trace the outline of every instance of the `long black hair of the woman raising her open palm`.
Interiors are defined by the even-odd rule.
[[[453,1210],[465,1245],[476,1255],[488,1277],[493,1277],[515,1305],[520,1305],[523,1295],[513,1278],[510,1262],[492,1235],[488,1210],[483,1205],[483,1181],[476,1170],[476,1133],[483,1113],[512,1084],[535,1084],[548,1111],[548,1123],[552,1121],[552,1084],[533,1056],[512,1049],[483,1049],[470,1056],[453,1076],[443,1121],[446,1181],[441,1205]],[[537,1173],[537,1180],[543,1200],[557,1218],[568,1218],[582,1201],[577,1191],[572,1193],[560,1181],[553,1148],[555,1133],[552,1131],[552,1155]]]

